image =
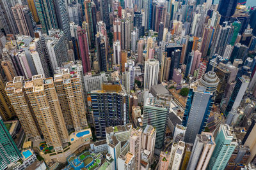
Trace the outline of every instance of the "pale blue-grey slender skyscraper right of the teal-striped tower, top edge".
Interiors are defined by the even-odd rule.
[[[64,32],[66,38],[70,40],[69,17],[65,0],[54,0],[54,7],[56,8],[58,27]]]

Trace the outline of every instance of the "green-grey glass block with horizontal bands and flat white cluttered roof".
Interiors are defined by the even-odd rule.
[[[155,148],[161,149],[164,144],[166,122],[170,109],[170,98],[159,96],[157,98],[147,97],[143,110],[143,129],[147,125],[156,128]]]

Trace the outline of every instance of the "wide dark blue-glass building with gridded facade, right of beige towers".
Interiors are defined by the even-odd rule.
[[[116,84],[115,84],[116,85]],[[122,91],[94,90],[91,92],[93,118],[97,138],[105,138],[105,128],[129,123],[129,96]]]

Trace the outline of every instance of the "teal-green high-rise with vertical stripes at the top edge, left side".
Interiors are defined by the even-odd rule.
[[[54,8],[54,0],[35,0],[35,6],[38,18],[42,24],[42,31],[48,34],[48,31],[52,28],[57,29],[58,20],[56,17],[56,10]]]

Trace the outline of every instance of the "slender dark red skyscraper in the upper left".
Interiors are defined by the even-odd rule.
[[[91,66],[89,57],[88,36],[85,29],[82,29],[78,26],[77,37],[79,42],[80,57],[82,59],[83,64],[83,71],[84,73],[87,73],[88,71],[91,71]]]

